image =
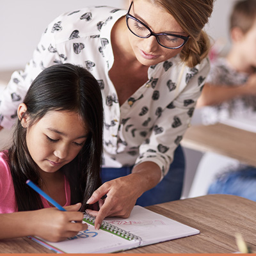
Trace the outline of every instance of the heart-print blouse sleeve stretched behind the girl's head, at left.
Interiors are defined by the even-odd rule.
[[[0,125],[10,129],[17,116],[17,108],[24,99],[32,81],[44,68],[61,62],[54,36],[58,33],[58,22],[53,21],[43,33],[33,58],[24,70],[15,71],[10,82],[0,95]]]

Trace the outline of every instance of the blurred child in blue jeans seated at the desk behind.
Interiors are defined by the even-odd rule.
[[[211,67],[198,99],[202,122],[256,114],[256,0],[237,1],[230,16],[232,46]],[[231,168],[231,167],[230,167]],[[238,164],[221,173],[209,193],[239,195],[256,201],[256,168]]]

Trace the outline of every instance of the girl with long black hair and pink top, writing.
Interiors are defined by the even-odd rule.
[[[102,113],[99,84],[84,68],[53,65],[36,77],[17,110],[13,145],[0,153],[0,239],[61,241],[87,228],[78,211],[100,186]]]

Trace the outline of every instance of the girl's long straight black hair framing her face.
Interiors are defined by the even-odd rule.
[[[82,202],[82,210],[95,189],[99,188],[102,160],[102,95],[97,80],[82,67],[59,64],[43,70],[31,84],[24,104],[29,127],[48,111],[75,111],[88,129],[88,138],[79,154],[63,166],[71,190],[71,204]],[[24,117],[24,115],[22,117]],[[17,201],[17,211],[43,207],[40,196],[26,180],[40,184],[40,175],[26,144],[27,128],[17,120],[13,145],[8,150],[10,170]]]

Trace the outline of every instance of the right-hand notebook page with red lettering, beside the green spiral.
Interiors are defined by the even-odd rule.
[[[139,205],[134,206],[131,216],[127,219],[106,218],[105,221],[141,237],[141,246],[200,233],[195,228],[166,218]]]

